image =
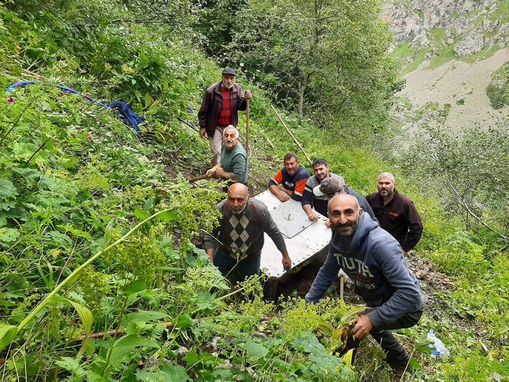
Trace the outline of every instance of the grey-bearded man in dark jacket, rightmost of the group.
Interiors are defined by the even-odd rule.
[[[415,204],[396,191],[394,176],[381,173],[378,176],[378,192],[366,197],[380,226],[400,243],[407,253],[417,245],[422,235],[422,220]]]

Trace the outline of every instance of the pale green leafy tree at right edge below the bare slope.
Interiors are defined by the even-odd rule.
[[[468,228],[480,224],[509,240],[508,153],[509,133],[503,126],[461,132],[425,126],[401,162],[435,189],[446,210]]]

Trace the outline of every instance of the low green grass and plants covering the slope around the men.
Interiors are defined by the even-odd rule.
[[[27,24],[23,30],[30,28],[31,24]],[[127,26],[122,28],[129,29]],[[138,37],[140,45],[149,40],[154,44],[160,43],[149,39],[151,30],[140,29],[136,28],[133,34],[127,34],[129,38],[126,40],[134,41]],[[435,34],[438,39],[444,31],[437,30]],[[21,46],[22,42],[15,41],[12,36],[0,35],[0,41],[6,46],[12,45],[12,52],[16,52],[15,47],[17,44]],[[7,39],[11,37],[9,45]],[[57,37],[54,36],[54,39]],[[105,34],[102,40],[115,37]],[[174,40],[177,41],[176,38]],[[116,75],[109,78],[102,74],[103,77],[97,81],[86,72],[86,65],[78,58],[59,59],[60,66],[50,65],[54,57],[45,58],[47,65],[53,68],[52,82],[65,77],[76,87],[96,88],[98,94],[108,91],[116,96],[119,93],[115,93],[115,90],[118,91],[123,84],[124,93],[120,94],[138,94],[133,97],[137,102],[143,100],[148,92],[149,97],[159,100],[161,103],[158,105],[162,106],[153,108],[155,101],[152,100],[145,105],[142,114],[147,117],[147,129],[160,131],[160,137],[165,139],[147,138],[141,142],[116,116],[87,104],[83,108],[80,98],[61,96],[53,87],[50,90],[37,86],[30,90],[17,89],[12,94],[14,103],[5,102],[6,97],[0,104],[0,115],[4,117],[0,120],[0,127],[9,138],[0,149],[0,205],[6,207],[0,209],[0,215],[3,213],[8,218],[8,226],[0,231],[0,246],[3,248],[0,258],[2,323],[16,325],[23,321],[34,305],[54,288],[61,271],[65,278],[70,270],[97,253],[100,246],[113,242],[144,217],[166,206],[178,208],[171,223],[154,221],[142,224],[139,232],[131,235],[129,242],[98,258],[96,264],[83,270],[76,284],[69,284],[69,289],[65,291],[66,297],[91,310],[94,331],[121,328],[128,336],[90,341],[83,358],[76,359],[78,342],[68,346],[67,341],[83,334],[76,312],[63,304],[47,306],[45,315],[38,317],[32,330],[23,334],[22,341],[13,344],[6,364],[1,365],[0,372],[6,376],[6,380],[39,380],[39,370],[43,370],[47,376],[54,374],[61,380],[69,377],[68,381],[80,381],[78,377],[71,378],[72,370],[76,374],[86,371],[89,373],[87,379],[91,379],[93,370],[102,370],[101,374],[105,374],[107,360],[111,360],[107,372],[107,378],[111,381],[119,380],[121,375],[134,379],[133,375],[138,373],[139,376],[144,374],[145,380],[163,379],[163,374],[171,379],[171,373],[186,372],[195,373],[195,379],[203,380],[232,381],[242,376],[246,380],[252,379],[253,374],[248,375],[247,370],[257,373],[259,380],[265,378],[269,381],[276,380],[275,376],[270,378],[274,368],[281,373],[293,368],[315,381],[338,380],[330,374],[326,375],[334,372],[327,365],[315,364],[320,359],[316,357],[316,352],[312,354],[314,361],[310,351],[297,351],[292,346],[290,341],[293,338],[288,328],[298,329],[309,322],[316,324],[314,309],[323,309],[321,314],[337,317],[338,308],[344,308],[341,303],[329,300],[328,303],[323,301],[314,306],[300,301],[300,304],[289,306],[288,311],[292,310],[293,314],[288,314],[291,317],[285,321],[285,317],[275,314],[272,305],[260,300],[260,284],[255,281],[250,288],[249,285],[242,286],[246,288],[246,295],[256,296],[254,301],[228,301],[227,304],[223,297],[226,290],[229,291],[229,286],[217,268],[206,264],[204,251],[188,244],[186,240],[183,242],[183,239],[197,241],[202,230],[210,231],[216,221],[215,202],[222,195],[217,193],[217,185],[213,182],[189,184],[182,174],[170,173],[201,171],[208,160],[206,140],[200,139],[187,127],[182,127],[175,120],[174,113],[177,114],[188,103],[197,106],[206,84],[217,81],[219,67],[206,59],[204,54],[197,53],[194,45],[175,45],[175,41],[174,50],[166,50],[164,54],[171,70],[166,70],[164,65],[156,67],[153,74],[157,74],[158,79],[150,85],[160,85],[160,88],[153,87],[149,91],[142,91],[140,87],[147,72],[145,70],[139,70],[136,78],[130,76],[122,79],[120,77],[128,73],[122,72],[122,67],[118,65],[115,67]],[[75,48],[78,50],[77,45]],[[415,56],[413,65],[417,67],[424,60],[426,52],[402,45],[395,54],[402,59],[412,54]],[[120,53],[111,49],[111,56],[115,54]],[[4,56],[3,59],[11,62],[10,65],[19,59],[7,49],[4,50]],[[63,56],[66,57],[65,54]],[[158,55],[151,57],[153,63],[159,63],[158,58]],[[16,70],[2,67],[1,77],[18,78],[22,67],[19,65]],[[50,71],[49,67],[41,63],[38,70],[43,75]],[[83,69],[78,71],[78,67]],[[136,79],[136,83],[133,83],[133,79]],[[117,87],[111,85],[110,81],[116,81]],[[6,85],[10,81],[0,79],[0,82]],[[248,85],[244,78],[239,78],[239,82],[244,88]],[[252,88],[257,96],[251,105],[254,153],[250,176],[261,179],[260,183],[266,189],[266,181],[275,168],[281,167],[284,153],[294,151],[303,165],[308,169],[310,166],[292,138],[277,122],[270,109],[270,98],[261,89]],[[447,111],[435,103],[426,105],[425,110],[429,109],[442,113]],[[475,237],[474,233],[463,233],[465,226],[457,218],[446,216],[437,202],[438,195],[433,194],[429,184],[406,177],[407,164],[401,163],[398,167],[398,161],[391,157],[390,149],[385,159],[380,158],[377,153],[377,149],[383,151],[377,145],[380,137],[374,136],[370,130],[372,127],[345,126],[345,121],[338,120],[334,121],[338,127],[325,130],[313,125],[312,121],[303,121],[294,114],[280,112],[309,156],[312,159],[326,158],[331,170],[345,176],[347,184],[356,191],[364,195],[375,191],[378,174],[382,171],[393,172],[398,189],[415,201],[424,220],[426,229],[418,246],[420,255],[435,259],[440,269],[457,277],[457,288],[441,296],[446,307],[437,310],[441,315],[440,322],[426,312],[418,326],[398,332],[404,346],[412,351],[422,334],[431,327],[436,328],[437,334],[447,341],[453,353],[451,358],[436,362],[429,354],[415,355],[424,365],[423,370],[416,372],[420,373],[417,377],[426,381],[470,381],[476,375],[487,380],[493,372],[507,374],[499,360],[507,358],[508,352],[497,344],[507,333],[503,310],[506,306],[504,298],[507,294],[508,262],[503,254],[488,252],[486,248],[490,248],[490,244],[480,243],[479,237],[487,235]],[[241,129],[245,125],[245,118],[242,113]],[[10,130],[14,125],[17,129]],[[42,147],[41,142],[47,137],[52,139]],[[274,149],[267,138],[270,138]],[[375,144],[371,145],[371,142]],[[41,147],[41,150],[29,164],[27,160],[34,152],[33,149],[29,150],[31,145]],[[23,147],[25,151],[21,151]],[[12,215],[8,214],[17,213],[11,206],[28,212],[22,216],[22,222],[18,222],[15,216],[14,219],[10,218]],[[273,319],[261,323],[259,317],[262,315],[272,315]],[[453,321],[452,318],[457,316],[466,322],[464,326],[459,327],[458,321]],[[165,321],[175,322],[177,326],[166,330],[152,323],[155,317],[164,317]],[[475,332],[475,326],[496,328]],[[268,338],[251,336],[254,332],[266,333]],[[221,337],[223,341],[219,345],[222,350],[219,357],[208,353],[207,341],[214,336]],[[232,338],[235,341],[230,341]],[[489,354],[479,350],[479,339],[484,338],[490,341],[487,342]],[[124,341],[126,339],[131,343]],[[162,350],[152,348],[153,343],[162,346]],[[182,364],[187,362],[187,368],[183,368],[177,363],[177,355],[173,351],[187,343],[191,344],[191,352],[182,361]],[[307,343],[310,347],[313,345],[311,341]],[[110,358],[111,350],[118,350],[120,345],[129,352],[116,351]],[[362,346],[364,359],[360,357],[356,374],[363,375],[363,380],[390,381],[387,369],[380,367],[384,364],[380,348],[369,341]],[[5,357],[4,354],[2,357]],[[160,370],[162,374],[159,375],[155,375],[155,371],[140,370],[140,361],[150,359],[155,354],[160,359],[167,358],[173,362],[171,370]],[[256,354],[259,356],[254,357]],[[375,357],[366,359],[367,354],[374,354]],[[337,361],[343,368],[334,354],[321,351],[320,355],[323,359]],[[221,368],[224,358],[232,359],[241,368]],[[274,368],[262,367],[272,363]],[[22,372],[18,374],[16,369]],[[76,372],[78,369],[80,373]],[[349,373],[345,380],[353,381],[351,372],[343,370]],[[219,373],[230,374],[221,376]],[[237,376],[233,376],[234,373]],[[25,379],[23,374],[28,377]],[[291,382],[296,379],[293,376],[284,378],[278,380]]]

